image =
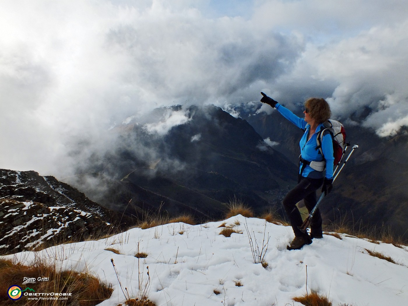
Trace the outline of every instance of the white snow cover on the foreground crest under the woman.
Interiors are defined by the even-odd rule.
[[[222,228],[218,226],[224,222],[241,233],[219,235]],[[264,233],[265,240],[270,237],[264,257],[266,268],[254,263],[245,226],[260,248]],[[98,241],[4,257],[24,264],[44,258],[63,269],[86,269],[113,286],[111,298],[100,306],[124,303],[118,277],[130,297],[136,297],[139,285],[145,288],[148,269],[148,297],[157,306],[299,306],[291,298],[306,293],[306,266],[308,292],[317,290],[335,306],[406,305],[408,248],[375,244],[346,234],[341,237],[324,235],[301,250],[288,251],[286,245],[293,239],[290,227],[238,215],[195,226],[173,223],[145,230],[133,228]],[[115,248],[121,254],[106,248]],[[398,264],[373,257],[365,249],[390,256]],[[148,256],[138,259],[137,252]],[[237,282],[242,286],[236,286]]]

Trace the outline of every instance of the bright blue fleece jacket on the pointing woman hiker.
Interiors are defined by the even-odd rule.
[[[295,124],[300,129],[302,130],[306,129],[299,142],[300,154],[302,155],[302,158],[310,162],[311,161],[321,162],[323,160],[323,156],[320,153],[319,149],[316,149],[317,147],[316,137],[323,124],[321,123],[317,126],[315,133],[312,135],[312,137],[310,137],[308,141],[307,137],[310,130],[310,124],[306,123],[306,121],[303,118],[297,117],[297,115],[295,115],[294,113],[292,113],[290,110],[280,105],[279,103],[275,105],[275,109],[277,109],[279,113],[281,113],[286,119],[288,119],[290,122]],[[329,133],[323,136],[322,151],[324,159],[326,160],[326,177],[328,179],[331,179],[333,178],[334,157],[333,157],[333,140]],[[300,163],[299,166],[299,173],[301,168],[302,162]],[[310,166],[307,165],[302,173],[302,176],[310,178],[322,178],[324,176],[324,172],[313,170],[312,168],[310,168]]]

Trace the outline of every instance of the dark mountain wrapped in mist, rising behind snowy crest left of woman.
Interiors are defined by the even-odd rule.
[[[160,120],[175,112],[184,116],[182,123],[162,135],[151,132],[164,125]],[[91,188],[84,189],[86,175],[68,182],[83,188],[95,202],[118,211],[131,209],[131,214],[141,213],[143,206],[147,206],[150,211],[161,207],[173,215],[180,212],[172,202],[176,201],[190,207],[187,212],[198,220],[208,216],[216,219],[234,197],[241,198],[255,211],[270,206],[280,209],[270,192],[281,194],[280,191],[293,186],[296,166],[268,146],[246,120],[234,118],[213,105],[174,106],[155,109],[153,113],[154,120],[146,116],[141,123],[131,122],[113,129],[118,134],[114,149],[97,163],[89,161],[86,169],[78,169],[84,173],[98,172],[92,175],[92,180],[100,180],[109,191],[95,194]],[[149,154],[142,155],[138,150]],[[101,170],[99,165],[107,170]],[[288,168],[293,171],[286,171]],[[138,188],[144,190],[143,200],[133,192]],[[162,205],[157,195],[164,196],[162,199],[167,199],[167,203]],[[191,205],[193,199],[197,201]],[[129,208],[129,201],[133,208]]]

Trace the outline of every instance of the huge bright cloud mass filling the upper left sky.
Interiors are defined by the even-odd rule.
[[[247,102],[254,84],[283,73],[302,50],[296,37],[207,18],[191,3],[3,3],[0,167],[55,173],[74,166],[72,146],[103,147],[106,130],[132,115]],[[171,124],[147,128],[165,133]]]

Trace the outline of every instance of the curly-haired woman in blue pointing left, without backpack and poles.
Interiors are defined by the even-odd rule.
[[[286,119],[304,131],[300,140],[299,156],[299,179],[298,184],[288,192],[283,200],[283,205],[288,214],[290,224],[295,234],[295,239],[287,246],[288,250],[298,250],[305,244],[311,244],[313,238],[322,238],[322,216],[319,208],[310,220],[310,236],[302,233],[298,226],[303,221],[296,203],[304,200],[304,204],[310,212],[316,204],[316,190],[322,186],[322,193],[329,193],[333,188],[333,140],[329,132],[323,135],[323,156],[317,148],[316,137],[323,126],[323,122],[330,118],[330,106],[322,98],[310,98],[304,103],[305,117],[297,115],[269,98],[264,93],[261,102],[277,109]],[[325,164],[324,164],[325,162]],[[326,166],[326,167],[325,167]]]

